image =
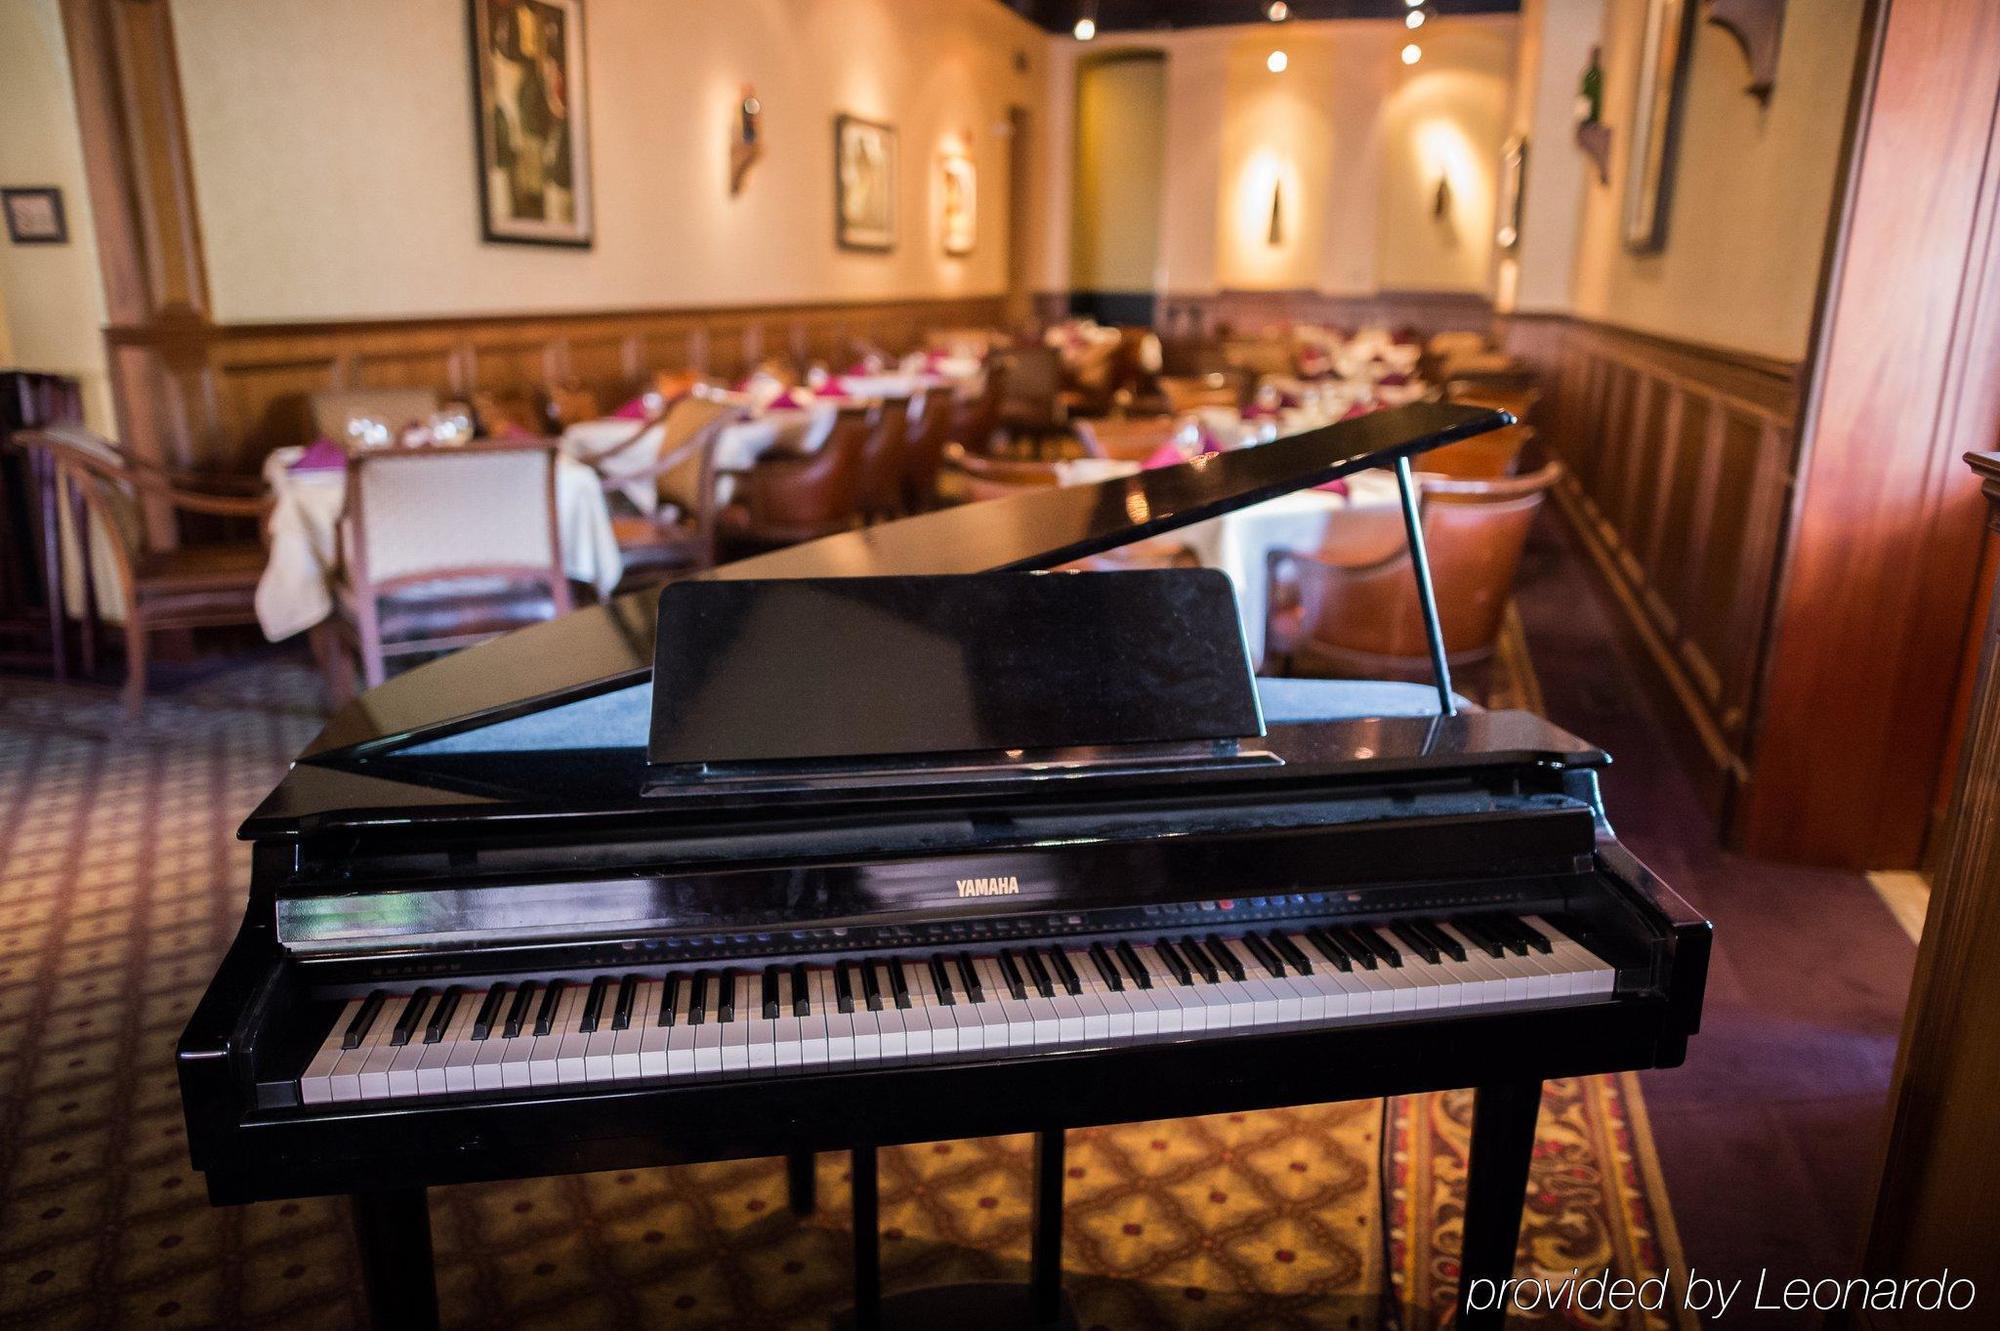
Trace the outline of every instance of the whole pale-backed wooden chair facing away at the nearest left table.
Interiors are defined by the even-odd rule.
[[[370,687],[390,658],[456,652],[568,614],[554,446],[352,456],[334,592],[334,632]],[[346,697],[346,656],[326,652],[322,667]]]

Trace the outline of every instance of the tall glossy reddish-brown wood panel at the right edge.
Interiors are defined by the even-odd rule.
[[[2000,438],[2000,6],[1882,6],[1852,136],[1740,843],[1920,861]]]

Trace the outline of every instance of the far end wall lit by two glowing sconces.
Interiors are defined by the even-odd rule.
[[[1400,22],[1242,24],[1088,46],[1056,38],[1044,96],[1058,148],[1042,162],[1052,216],[1038,288],[1062,290],[1074,276],[1064,252],[1074,150],[1064,146],[1074,142],[1076,64],[1140,48],[1166,54],[1160,292],[1488,290],[1514,32],[1510,16],[1434,20],[1418,70],[1398,58]],[[1288,56],[1282,74],[1264,64],[1274,46]],[[1458,196],[1448,234],[1430,222],[1426,192],[1446,142],[1454,150],[1440,160]],[[1284,238],[1272,246],[1276,180],[1286,182]]]

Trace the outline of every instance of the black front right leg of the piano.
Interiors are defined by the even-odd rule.
[[[1540,1109],[1540,1081],[1482,1085],[1472,1101],[1466,1241],[1458,1263],[1462,1331],[1500,1327],[1506,1319],[1500,1283],[1514,1275],[1520,1211],[1528,1195],[1528,1163],[1534,1157],[1534,1119]],[[1466,1307],[1472,1295],[1478,1295],[1480,1307]]]

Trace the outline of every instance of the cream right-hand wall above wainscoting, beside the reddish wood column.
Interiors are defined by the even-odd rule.
[[[1744,92],[1736,40],[1696,24],[1666,248],[1630,254],[1620,210],[1646,4],[1608,0],[1612,184],[1592,174],[1584,192],[1576,314],[1780,360],[1806,354],[1862,4],[1786,8],[1770,106]]]

